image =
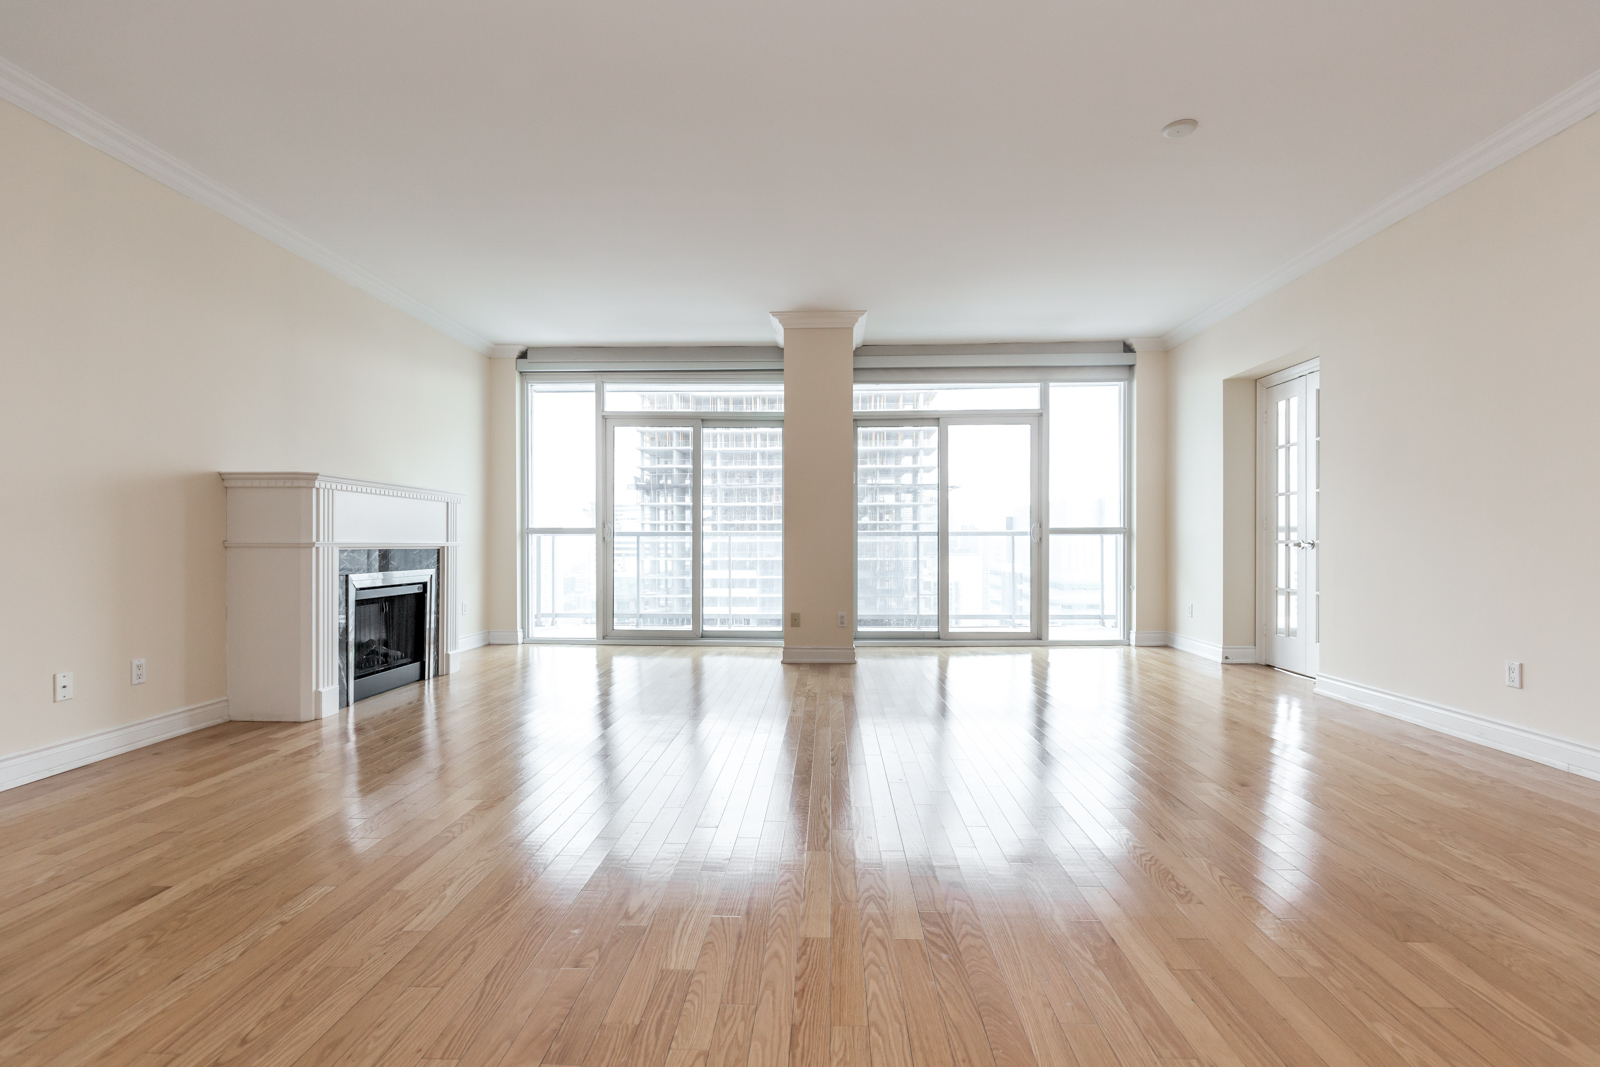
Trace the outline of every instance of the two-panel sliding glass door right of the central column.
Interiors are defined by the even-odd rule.
[[[856,426],[864,637],[1038,638],[1040,416]]]

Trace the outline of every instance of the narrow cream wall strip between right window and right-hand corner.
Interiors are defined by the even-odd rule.
[[[1166,576],[1166,352],[1139,352],[1133,368],[1133,630],[1171,629]]]

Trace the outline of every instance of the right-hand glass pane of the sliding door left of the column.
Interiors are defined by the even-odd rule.
[[[784,614],[784,432],[701,430],[701,627],[781,630]]]

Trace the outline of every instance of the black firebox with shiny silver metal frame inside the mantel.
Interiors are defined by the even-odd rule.
[[[432,569],[349,574],[346,693],[349,702],[435,673]]]

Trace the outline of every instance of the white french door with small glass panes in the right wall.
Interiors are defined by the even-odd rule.
[[[1318,445],[1322,374],[1293,368],[1261,382],[1264,661],[1318,667]]]

